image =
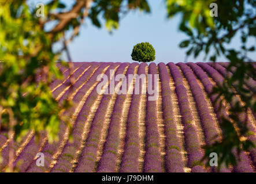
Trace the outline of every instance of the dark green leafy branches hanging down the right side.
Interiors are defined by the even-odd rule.
[[[210,4],[216,3],[218,6],[218,16],[210,16]],[[240,121],[241,112],[256,112],[255,90],[250,91],[244,86],[244,82],[251,76],[254,80],[255,70],[250,62],[253,59],[248,57],[248,52],[255,50],[255,45],[248,45],[249,37],[256,36],[256,1],[222,1],[222,0],[190,0],[190,1],[173,1],[166,0],[168,17],[173,17],[181,13],[179,29],[187,34],[188,39],[180,43],[181,48],[187,49],[187,56],[194,55],[197,57],[199,53],[205,53],[205,59],[208,58],[213,62],[217,57],[224,56],[230,62],[228,71],[235,67],[236,70],[232,76],[226,76],[223,85],[219,85],[213,89],[213,93],[218,97],[224,97],[225,101],[232,103],[235,98],[235,89],[238,91],[243,103],[237,103],[229,109],[228,118],[223,117],[221,124],[222,141],[213,145],[206,145],[205,159],[209,159],[210,152],[218,153],[218,168],[221,163],[235,164],[233,150],[238,153],[242,150],[251,150],[254,144],[242,137],[248,137],[251,134],[245,122]],[[233,37],[240,33],[240,48],[232,49],[228,47]],[[239,46],[239,45],[238,45]],[[211,52],[210,52],[211,51]],[[220,103],[223,108],[222,100],[217,98],[215,103]],[[218,110],[222,110],[222,109]],[[235,130],[233,126],[238,127]],[[254,135],[255,136],[255,135]]]

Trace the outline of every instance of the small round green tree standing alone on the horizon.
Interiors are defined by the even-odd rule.
[[[151,62],[155,60],[155,49],[148,42],[139,43],[133,47],[131,56],[138,62]]]

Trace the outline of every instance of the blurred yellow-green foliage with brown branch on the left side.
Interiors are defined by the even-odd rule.
[[[49,122],[58,124],[60,109],[49,84],[51,76],[60,77],[60,72],[54,66],[51,41],[24,1],[1,3],[0,21],[1,127],[13,129],[15,139],[31,130],[46,130],[54,139],[56,128]],[[43,47],[34,55],[36,45],[42,42]],[[43,80],[36,82],[39,75]]]

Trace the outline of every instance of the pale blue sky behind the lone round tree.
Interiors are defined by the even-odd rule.
[[[64,2],[69,4],[72,1]],[[151,7],[150,14],[140,11],[129,12],[112,34],[107,32],[104,22],[99,29],[86,19],[79,36],[69,44],[73,62],[133,62],[131,59],[133,45],[145,41],[155,48],[154,62],[184,62],[187,49],[179,48],[179,43],[187,39],[187,36],[178,29],[180,16],[166,18],[164,0],[148,0],[148,2]],[[238,48],[239,43],[240,37],[237,35],[229,47]],[[255,45],[255,39],[250,39],[249,43]],[[248,56],[255,59],[256,53]],[[188,61],[207,62],[203,57],[203,54],[196,59],[190,56]],[[66,60],[66,55],[63,55],[63,58]],[[219,57],[217,61],[227,60]]]

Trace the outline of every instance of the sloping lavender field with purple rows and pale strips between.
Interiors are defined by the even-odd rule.
[[[232,75],[225,70],[228,63],[74,63],[73,86],[69,86],[68,69],[58,66],[64,79],[55,80],[50,87],[58,102],[73,99],[72,108],[65,112],[72,130],[62,122],[57,143],[49,144],[43,134],[37,142],[34,132],[15,143],[13,163],[20,172],[216,171],[197,161],[203,156],[202,145],[221,139],[220,117],[228,116],[228,109],[234,105],[224,101],[225,110],[217,112],[219,104],[213,104],[217,95],[209,95],[213,86],[225,82],[224,76]],[[106,85],[97,81],[100,74],[106,74]],[[112,80],[120,74],[127,80]],[[131,74],[144,74],[146,80],[128,80]],[[148,76],[152,76],[150,83]],[[244,85],[251,91],[256,89],[252,78]],[[111,86],[122,93],[111,94]],[[236,100],[242,103],[239,91]],[[256,133],[256,114],[249,110],[247,115],[248,128]],[[8,143],[6,132],[1,132],[0,171],[8,164]],[[44,154],[44,167],[36,166],[38,152]],[[221,171],[256,171],[255,149],[242,152],[240,157],[236,158],[237,166],[222,166]]]

